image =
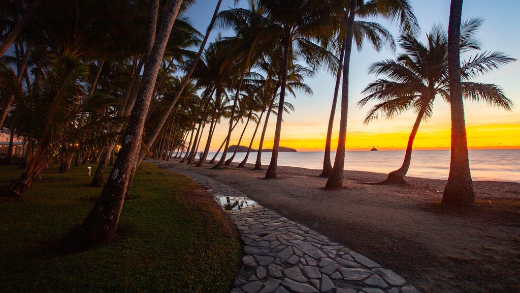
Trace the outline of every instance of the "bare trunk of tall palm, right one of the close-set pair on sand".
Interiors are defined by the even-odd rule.
[[[325,188],[341,188],[343,186],[343,168],[345,166],[345,144],[347,138],[347,114],[348,114],[348,72],[350,67],[350,53],[354,35],[354,19],[356,17],[357,0],[350,2],[348,13],[348,27],[345,43],[345,57],[343,60],[343,84],[341,92],[340,133],[337,140],[336,157],[332,174],[327,180]]]

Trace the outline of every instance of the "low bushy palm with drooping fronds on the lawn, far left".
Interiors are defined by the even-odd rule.
[[[105,109],[119,100],[110,96],[86,100],[82,81],[87,68],[79,58],[63,55],[34,84],[32,95],[24,96],[12,113],[18,133],[29,145],[28,166],[9,187],[9,196],[19,197],[34,178],[55,157],[68,161],[79,146],[92,148],[107,145],[115,134],[107,129],[122,125],[118,116],[86,113]]]

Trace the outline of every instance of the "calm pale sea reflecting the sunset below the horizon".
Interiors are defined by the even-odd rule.
[[[215,153],[208,156],[212,158]],[[230,157],[231,154],[228,154]],[[334,160],[335,153],[332,153]],[[399,168],[405,151],[346,152],[345,169],[389,173]],[[240,163],[245,153],[237,153],[233,162]],[[262,164],[268,165],[271,153],[262,153]],[[254,164],[256,153],[251,153],[248,163]],[[281,152],[279,166],[321,169],[323,152]],[[450,151],[413,151],[408,176],[447,179]],[[470,167],[473,180],[520,182],[520,150],[470,150]]]

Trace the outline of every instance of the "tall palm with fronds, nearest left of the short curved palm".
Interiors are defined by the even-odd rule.
[[[360,10],[364,15],[379,15],[389,19],[399,17],[401,29],[409,32],[416,31],[419,27],[417,19],[415,19],[407,0],[374,0],[369,1],[366,4],[363,3],[362,0],[351,0],[348,1],[346,5],[340,5],[339,7],[339,14],[341,15],[343,15],[344,11],[348,10],[348,22],[346,26],[347,32],[345,34],[345,56],[343,58],[340,132],[338,136],[334,167],[332,168],[332,173],[325,186],[329,189],[341,188],[343,186],[348,114],[348,74],[350,69],[350,53],[352,52],[352,42],[354,37],[354,21],[357,11]]]

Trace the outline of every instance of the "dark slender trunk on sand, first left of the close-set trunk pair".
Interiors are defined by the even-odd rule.
[[[289,40],[283,44],[282,83],[280,85],[280,100],[278,101],[278,116],[276,117],[275,139],[272,144],[271,162],[267,167],[265,178],[276,178],[276,167],[278,165],[278,148],[280,146],[280,135],[282,132],[283,104],[285,103],[285,85],[287,84],[287,71],[289,68]]]

